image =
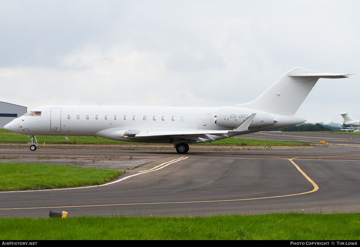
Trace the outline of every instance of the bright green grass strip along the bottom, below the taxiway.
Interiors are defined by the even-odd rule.
[[[359,240],[360,213],[211,217],[0,218],[11,240]]]

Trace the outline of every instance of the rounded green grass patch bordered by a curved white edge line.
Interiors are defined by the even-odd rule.
[[[0,163],[0,191],[80,187],[104,184],[123,172],[40,163]]]

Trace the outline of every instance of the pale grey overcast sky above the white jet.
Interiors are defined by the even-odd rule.
[[[295,116],[360,119],[359,1],[0,0],[0,101],[233,106],[293,67],[320,79]]]

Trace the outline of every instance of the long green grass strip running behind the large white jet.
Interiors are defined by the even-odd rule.
[[[14,137],[14,138],[13,138]],[[57,144],[154,144],[154,143],[129,143],[109,140],[105,138],[94,138],[93,136],[68,136],[69,140],[66,140],[64,136],[36,136],[37,142],[41,143],[57,143]],[[23,134],[12,133],[5,129],[0,129],[0,143],[28,143],[30,138]],[[281,142],[270,140],[257,140],[247,138],[226,138],[217,140],[213,143],[199,143],[200,145],[225,145],[225,146],[279,146],[279,145],[309,145],[298,142]],[[169,144],[172,145],[172,144]]]

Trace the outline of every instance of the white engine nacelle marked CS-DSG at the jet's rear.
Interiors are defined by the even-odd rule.
[[[272,113],[236,106],[217,107],[215,124],[222,127],[235,128],[245,121],[252,113],[256,113],[256,116],[249,128],[274,125],[274,115]]]

